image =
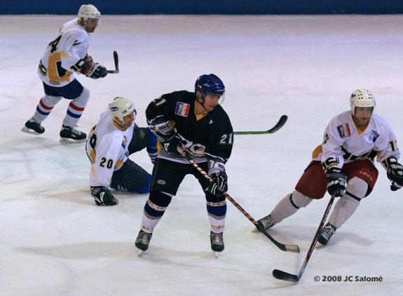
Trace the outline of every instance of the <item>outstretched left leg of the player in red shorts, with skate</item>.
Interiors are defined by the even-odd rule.
[[[320,161],[312,161],[296,184],[295,190],[287,194],[266,217],[258,220],[262,229],[268,229],[297,210],[308,206],[313,199],[322,199],[327,187],[326,175]]]

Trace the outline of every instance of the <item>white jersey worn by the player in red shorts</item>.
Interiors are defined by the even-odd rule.
[[[399,159],[396,136],[381,116],[373,114],[365,130],[355,126],[350,111],[335,116],[325,130],[322,145],[313,152],[313,159],[324,163],[333,158],[338,161],[337,166],[343,163],[362,159],[374,159],[383,162],[390,156]],[[385,167],[385,164],[382,163]]]

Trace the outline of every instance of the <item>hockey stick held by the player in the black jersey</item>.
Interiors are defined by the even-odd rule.
[[[198,166],[198,164],[196,162],[194,162],[190,156],[188,154],[186,154],[186,152],[184,152],[183,150],[179,152],[182,156],[184,156],[184,158],[186,158],[189,163],[191,163],[191,165],[193,167],[196,168],[196,170],[198,170],[203,177],[205,177],[207,180],[209,180],[210,182],[214,182],[212,180],[212,178],[207,175],[207,173],[205,172],[205,170],[203,170],[203,168],[200,168],[200,166]],[[245,217],[247,217],[248,220],[250,220],[250,222],[252,222],[254,224],[255,227],[259,228],[259,231],[261,231],[265,236],[267,236],[275,245],[277,245],[278,248],[280,248],[280,250],[283,250],[285,252],[293,252],[293,253],[299,253],[299,247],[298,245],[285,245],[284,243],[279,243],[278,241],[276,241],[270,234],[268,234],[268,232],[266,231],[266,229],[261,229],[261,227],[259,227],[259,225],[257,224],[257,221],[254,220],[252,218],[251,215],[249,215],[249,213],[247,213],[247,211],[240,206],[239,203],[237,203],[229,194],[227,194],[226,192],[224,192],[224,196],[226,197],[226,199],[228,199],[228,201],[231,201],[231,203],[235,206],[235,208],[238,208],[238,210],[240,210],[240,213],[243,213],[243,215]]]

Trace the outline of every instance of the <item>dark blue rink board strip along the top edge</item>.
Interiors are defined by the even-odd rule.
[[[0,0],[0,14],[76,14],[88,3],[102,14],[403,13],[403,0]]]

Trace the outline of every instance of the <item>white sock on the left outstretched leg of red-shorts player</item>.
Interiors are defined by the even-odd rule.
[[[304,196],[299,191],[292,191],[292,194],[287,194],[271,212],[271,217],[275,223],[279,223],[285,218],[296,213],[299,208],[304,208],[312,201],[307,196]]]

